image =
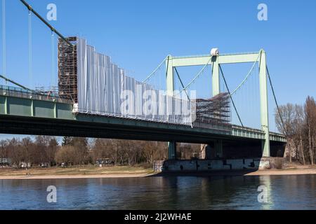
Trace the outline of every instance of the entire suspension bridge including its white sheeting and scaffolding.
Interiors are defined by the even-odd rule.
[[[58,92],[32,90],[9,78],[5,69],[3,25],[3,73],[0,77],[5,83],[0,86],[1,133],[168,141],[169,159],[176,159],[177,142],[209,144],[220,158],[227,155],[225,148],[256,151],[269,158],[276,156],[286,143],[284,135],[270,132],[269,128],[268,83],[272,87],[272,82],[264,50],[222,55],[214,49],[202,56],[169,55],[143,82],[138,82],[126,76],[124,69],[113,64],[110,57],[96,52],[85,40],[62,36],[32,6],[21,1],[27,6],[29,17],[33,13],[52,34],[59,36]],[[32,26],[29,25],[29,29]],[[29,43],[29,60],[31,46]],[[53,56],[54,51],[52,48]],[[230,90],[223,66],[245,63],[252,64],[249,72],[235,90]],[[202,68],[185,83],[179,70],[190,66]],[[209,73],[207,68],[211,69]],[[193,85],[205,73],[211,77],[209,97],[192,96],[190,90],[201,88]],[[29,76],[32,77],[32,64]],[[162,80],[160,83],[155,81],[157,77]],[[246,119],[243,120],[240,105],[234,99],[247,83],[251,84],[251,77],[258,78],[259,128],[246,127]],[[133,97],[126,92],[133,92]],[[232,113],[237,120],[231,119]]]

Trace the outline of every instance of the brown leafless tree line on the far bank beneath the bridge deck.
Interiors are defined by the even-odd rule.
[[[19,167],[22,162],[37,167],[65,163],[69,166],[95,164],[98,158],[108,158],[117,165],[152,164],[167,158],[167,144],[157,141],[128,141],[64,137],[58,144],[55,137],[6,139],[0,141],[0,158],[9,158]]]

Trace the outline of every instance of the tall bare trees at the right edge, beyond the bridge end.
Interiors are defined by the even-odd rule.
[[[316,102],[307,97],[305,104],[287,104],[275,111],[279,132],[287,137],[287,158],[303,165],[315,164],[316,153]]]

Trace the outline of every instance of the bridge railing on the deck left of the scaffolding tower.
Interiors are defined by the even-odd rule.
[[[25,90],[20,87],[13,87],[13,86],[7,86],[7,85],[0,85],[0,96],[18,97],[18,98],[25,98],[25,99],[34,99],[34,100],[41,100],[41,101],[72,104],[71,99],[60,98],[56,94],[44,94],[41,92]]]

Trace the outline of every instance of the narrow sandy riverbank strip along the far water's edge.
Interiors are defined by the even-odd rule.
[[[166,172],[155,173],[143,167],[86,167],[48,169],[0,169],[0,180],[25,179],[103,179],[139,178],[148,176],[278,176],[316,175],[316,167],[289,166],[287,169],[229,170],[217,172]]]

